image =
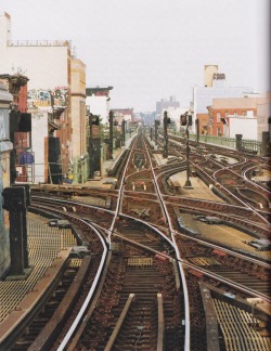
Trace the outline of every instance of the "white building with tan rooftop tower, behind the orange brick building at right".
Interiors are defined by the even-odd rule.
[[[193,127],[195,132],[195,119],[199,119],[199,125],[204,120],[209,122],[208,106],[211,106],[214,99],[219,98],[243,98],[246,94],[254,94],[251,87],[227,87],[225,75],[218,72],[217,65],[205,66],[204,87],[193,88]],[[199,133],[203,132],[201,129]]]

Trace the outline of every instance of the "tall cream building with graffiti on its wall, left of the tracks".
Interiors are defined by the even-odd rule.
[[[8,13],[0,16],[0,51],[3,73],[27,72],[29,78],[35,182],[61,182],[86,152],[86,140],[79,141],[86,130],[86,66],[67,40],[12,40]]]

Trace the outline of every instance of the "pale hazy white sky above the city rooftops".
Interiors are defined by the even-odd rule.
[[[113,108],[188,106],[205,64],[228,86],[270,89],[270,0],[0,0],[3,12],[13,40],[72,40],[87,87],[114,87]]]

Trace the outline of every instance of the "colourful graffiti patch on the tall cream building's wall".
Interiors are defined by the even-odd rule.
[[[68,88],[55,87],[53,90],[31,89],[27,95],[28,110],[66,107],[68,105]]]

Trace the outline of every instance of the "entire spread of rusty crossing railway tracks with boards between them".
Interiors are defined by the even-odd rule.
[[[33,186],[28,210],[67,220],[77,249],[7,348],[269,350],[270,188],[253,180],[268,162],[192,144],[184,188],[182,142],[164,159],[139,132],[111,188]]]

